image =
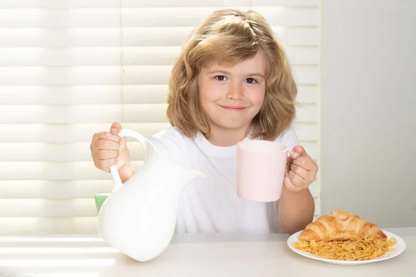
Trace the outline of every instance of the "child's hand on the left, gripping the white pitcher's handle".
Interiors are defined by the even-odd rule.
[[[119,172],[132,172],[126,140],[117,135],[121,129],[121,124],[114,122],[110,132],[98,132],[92,137],[90,149],[96,168],[110,172],[110,166],[116,165]]]

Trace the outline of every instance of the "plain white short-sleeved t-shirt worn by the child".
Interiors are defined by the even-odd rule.
[[[292,128],[275,141],[289,150],[299,144]],[[177,208],[177,233],[282,232],[276,202],[253,202],[236,194],[235,145],[212,145],[201,133],[190,139],[175,127],[155,134],[152,143],[178,166],[206,176],[184,189]]]

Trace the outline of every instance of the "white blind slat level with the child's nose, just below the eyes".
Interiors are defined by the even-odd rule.
[[[0,105],[159,104],[167,95],[167,84],[0,86]],[[298,85],[297,101],[317,103],[318,86]]]

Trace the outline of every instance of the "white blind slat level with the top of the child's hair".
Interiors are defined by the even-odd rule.
[[[196,26],[213,7],[88,8],[67,10],[0,9],[3,28],[112,28]],[[243,8],[243,7],[241,7]],[[248,10],[248,7],[243,8]],[[318,8],[254,7],[272,26],[318,26]],[[173,17],[172,14],[175,16]],[[278,14],[279,17],[274,15]],[[155,16],[157,15],[157,16]],[[122,18],[122,20],[120,20]]]

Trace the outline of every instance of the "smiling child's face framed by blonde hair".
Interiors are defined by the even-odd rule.
[[[211,129],[248,128],[263,105],[265,62],[259,51],[251,60],[232,67],[202,67],[198,89]]]

